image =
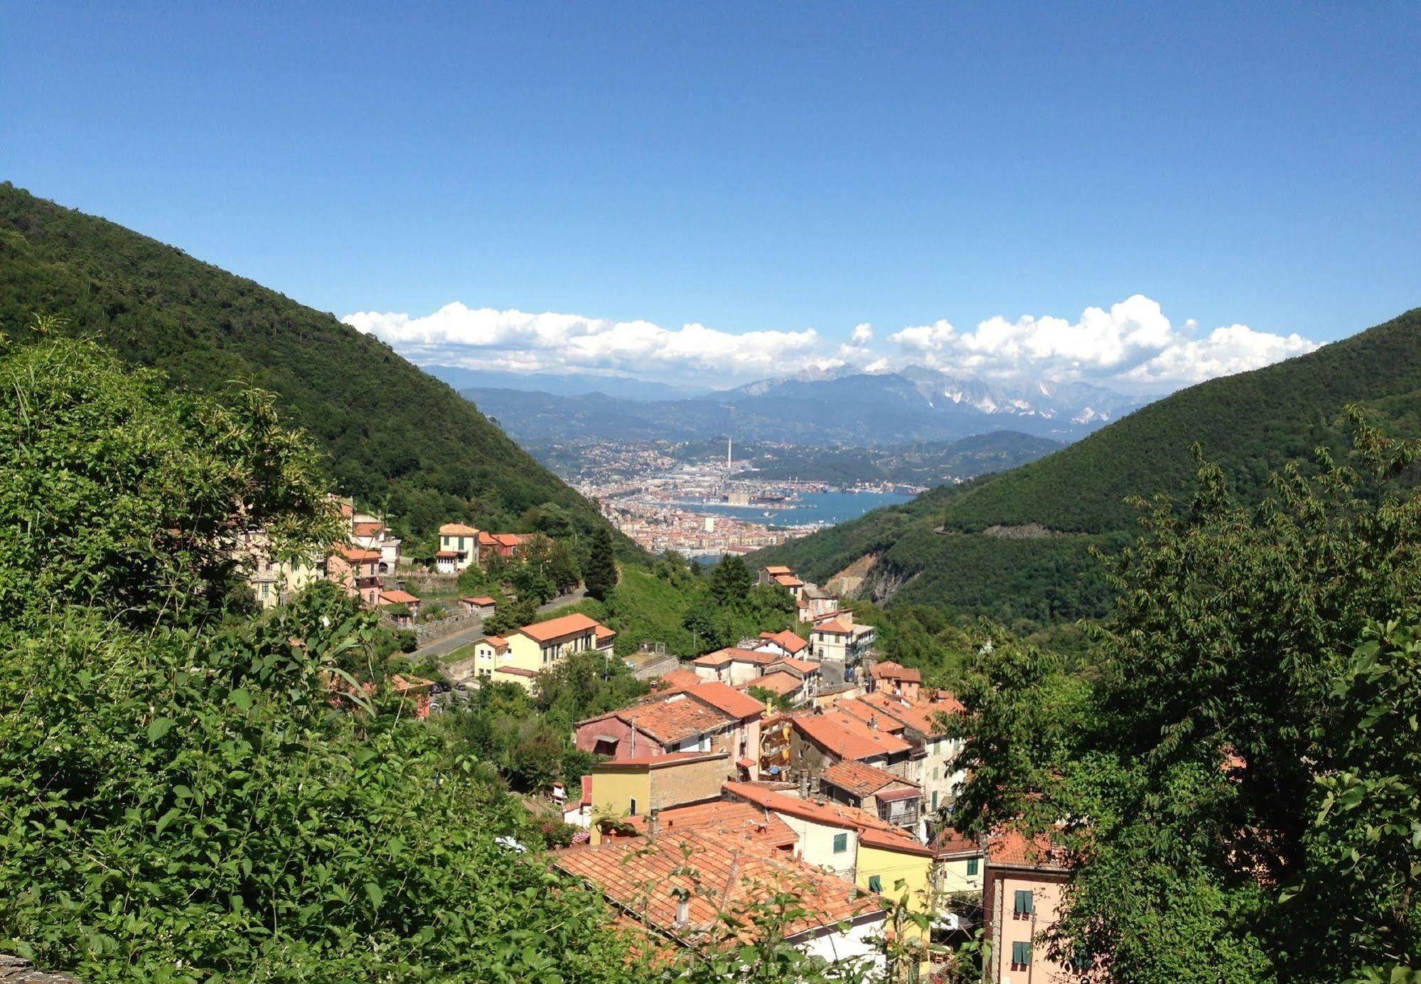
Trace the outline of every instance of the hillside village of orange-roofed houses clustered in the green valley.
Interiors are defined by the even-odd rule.
[[[348,542],[324,562],[259,561],[253,592],[276,605],[324,578],[387,625],[409,625],[421,599],[385,586],[409,568],[399,541],[338,501]],[[516,558],[524,537],[449,523],[438,547],[435,574],[448,575]],[[456,691],[499,683],[533,691],[541,673],[580,653],[621,660],[649,683],[637,703],[576,724],[573,743],[597,764],[580,788],[557,782],[544,792],[580,831],[551,863],[595,886],[624,929],[658,949],[699,947],[728,907],[767,904],[793,887],[801,912],[784,931],[806,954],[884,961],[884,940],[894,939],[914,973],[932,973],[980,931],[996,980],[1076,980],[1032,949],[1069,879],[1060,852],[1046,838],[1009,829],[968,838],[952,826],[968,777],[951,721],[963,706],[925,686],[919,670],[881,659],[874,628],[834,592],[787,567],[760,568],[756,584],[789,592],[803,635],[762,632],[686,657],[644,643],[615,656],[615,630],[553,613],[477,633],[445,665]],[[459,601],[465,626],[496,613],[492,596]],[[396,689],[421,717],[445,706],[428,680]],[[914,917],[928,930],[914,929]]]

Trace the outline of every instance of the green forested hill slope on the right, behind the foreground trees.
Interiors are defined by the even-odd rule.
[[[1258,500],[1285,461],[1341,446],[1349,403],[1394,433],[1421,434],[1421,308],[1310,355],[1191,386],[1012,471],[936,488],[755,559],[824,582],[871,555],[860,564],[868,571],[858,594],[877,601],[945,603],[1006,622],[1098,615],[1108,592],[1090,547],[1114,550],[1128,538],[1137,514],[1127,497],[1187,490],[1198,442],[1241,497]]]

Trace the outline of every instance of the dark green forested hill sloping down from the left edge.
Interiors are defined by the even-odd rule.
[[[580,530],[597,510],[472,403],[330,314],[104,219],[0,183],[0,329],[24,341],[34,312],[124,359],[220,393],[243,381],[279,395],[330,456],[335,487],[428,537],[441,523],[516,528],[543,503]],[[620,540],[628,555],[635,548]]]

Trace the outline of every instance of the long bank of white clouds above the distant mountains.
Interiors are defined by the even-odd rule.
[[[928,365],[986,378],[1083,381],[1130,392],[1165,392],[1214,376],[1256,369],[1317,348],[1300,335],[1248,325],[1201,334],[1175,325],[1141,294],[1106,308],[1059,317],[996,315],[971,331],[949,321],[908,325],[875,345],[874,325],[855,325],[844,342],[804,331],[733,334],[685,324],[610,321],[576,314],[470,308],[446,304],[433,314],[357,311],[342,318],[377,335],[414,362],[513,372],[590,372],[732,386],[807,369],[868,372]]]

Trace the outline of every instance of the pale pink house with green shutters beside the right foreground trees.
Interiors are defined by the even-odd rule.
[[[982,879],[982,926],[992,943],[983,980],[996,984],[1073,984],[1080,974],[1052,963],[1043,933],[1060,917],[1070,880],[1064,852],[1050,838],[1027,839],[1015,831],[989,838]]]

